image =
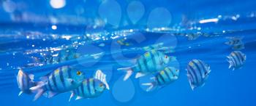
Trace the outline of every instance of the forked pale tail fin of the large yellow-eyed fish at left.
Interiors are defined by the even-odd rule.
[[[45,89],[43,88],[45,86],[45,83],[42,81],[37,82],[37,86],[31,87],[30,90],[32,92],[37,92],[37,94],[34,96],[33,101],[37,100],[39,97],[42,96],[42,94],[45,93]]]

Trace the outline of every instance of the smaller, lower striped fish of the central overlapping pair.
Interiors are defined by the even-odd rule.
[[[159,71],[156,76],[153,77],[154,81],[151,83],[142,83],[143,86],[149,86],[146,91],[150,91],[156,86],[166,86],[178,79],[179,70],[172,67],[166,67],[164,70]]]

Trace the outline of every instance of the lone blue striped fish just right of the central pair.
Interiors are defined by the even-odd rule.
[[[192,90],[199,86],[203,86],[210,72],[211,70],[209,65],[206,65],[203,61],[190,61],[189,65],[187,65],[187,77]]]

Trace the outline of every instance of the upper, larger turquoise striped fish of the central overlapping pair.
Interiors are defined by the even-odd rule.
[[[124,81],[126,81],[134,72],[137,73],[135,78],[139,78],[148,73],[156,73],[163,70],[172,60],[176,60],[175,57],[168,57],[163,52],[151,50],[135,59],[134,66],[129,68],[118,68],[117,70],[127,71],[126,76],[124,76]]]

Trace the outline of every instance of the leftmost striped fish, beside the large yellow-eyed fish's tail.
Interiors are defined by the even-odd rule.
[[[18,96],[20,96],[22,93],[33,94],[33,92],[29,89],[33,86],[37,86],[37,82],[34,82],[33,80],[34,75],[24,73],[23,70],[18,71],[17,83],[20,89]]]

